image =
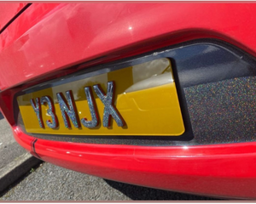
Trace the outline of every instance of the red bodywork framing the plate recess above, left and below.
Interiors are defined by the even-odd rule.
[[[255,3],[33,3],[0,35],[3,115],[15,139],[31,150],[33,138],[14,118],[14,96],[24,88],[203,37],[233,43],[256,57],[255,10]],[[80,63],[85,65],[73,66]],[[256,198],[255,143],[152,147],[38,139],[36,150],[44,161],[102,178]]]

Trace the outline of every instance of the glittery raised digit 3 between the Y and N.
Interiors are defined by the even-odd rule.
[[[46,124],[50,128],[56,128],[58,127],[58,119],[55,115],[55,105],[53,104],[52,100],[49,96],[43,96],[41,97],[41,105],[47,104],[49,106],[49,109],[47,110],[47,114],[51,116],[51,122],[50,120],[46,121]]]

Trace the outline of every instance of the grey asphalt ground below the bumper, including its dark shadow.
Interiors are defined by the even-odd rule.
[[[49,163],[32,169],[0,195],[0,201],[174,201],[214,200],[154,190],[77,173]]]

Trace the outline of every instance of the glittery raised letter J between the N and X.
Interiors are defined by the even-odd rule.
[[[88,121],[85,117],[81,119],[82,124],[84,127],[96,127],[98,125],[98,115],[96,111],[96,105],[94,98],[91,94],[91,89],[90,87],[84,88],[84,92],[86,95],[86,99],[90,108],[90,116],[91,116],[91,121]]]

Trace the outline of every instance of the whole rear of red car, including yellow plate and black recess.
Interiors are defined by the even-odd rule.
[[[0,107],[33,156],[130,184],[256,198],[255,3],[2,10]]]

